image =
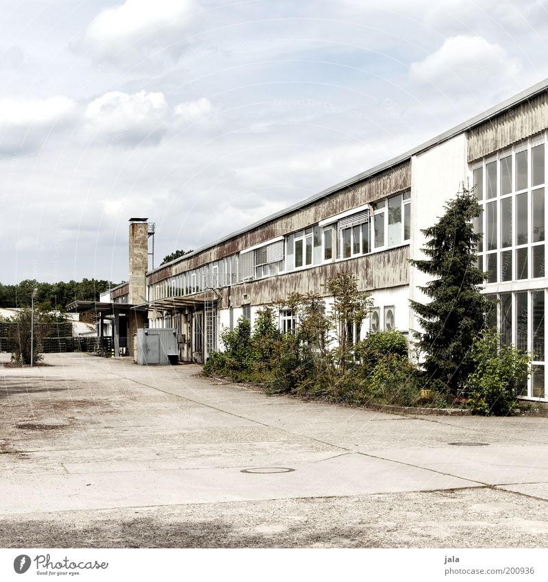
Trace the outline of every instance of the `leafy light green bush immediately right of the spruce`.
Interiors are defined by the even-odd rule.
[[[475,366],[466,390],[475,414],[504,416],[516,408],[516,394],[526,385],[531,373],[533,354],[514,345],[499,345],[500,336],[493,328],[484,329],[471,348]]]

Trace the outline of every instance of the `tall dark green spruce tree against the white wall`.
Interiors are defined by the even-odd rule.
[[[428,258],[410,260],[432,276],[425,287],[419,287],[430,302],[410,301],[423,328],[414,335],[425,354],[425,380],[453,395],[473,372],[470,348],[494,304],[480,293],[485,274],[477,268],[476,249],[482,235],[473,228],[479,213],[473,190],[463,184],[462,192],[445,206],[443,217],[421,230],[428,239],[423,248]]]

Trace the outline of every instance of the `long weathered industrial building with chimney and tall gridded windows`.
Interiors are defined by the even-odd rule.
[[[536,354],[520,396],[547,400],[547,91],[548,80],[397,158],[148,272],[147,219],[132,219],[129,282],[101,298],[99,308],[114,319],[124,345],[145,322],[149,328],[174,328],[180,361],[201,363],[219,348],[221,330],[232,328],[238,317],[253,323],[258,308],[292,291],[325,293],[328,277],[349,270],[375,306],[356,336],[390,328],[408,333],[419,328],[409,300],[425,301],[419,287],[427,282],[408,259],[421,258],[421,229],[437,221],[445,202],[468,181],[483,210],[476,225],[484,234],[479,265],[488,271],[485,293],[500,300],[503,341]],[[280,328],[294,325],[292,317],[279,313]]]

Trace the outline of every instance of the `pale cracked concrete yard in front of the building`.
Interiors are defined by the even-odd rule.
[[[548,418],[303,402],[196,365],[8,362],[1,547],[546,546]]]

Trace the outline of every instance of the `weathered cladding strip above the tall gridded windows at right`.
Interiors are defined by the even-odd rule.
[[[473,162],[548,128],[548,93],[478,125],[469,132],[468,161]]]

